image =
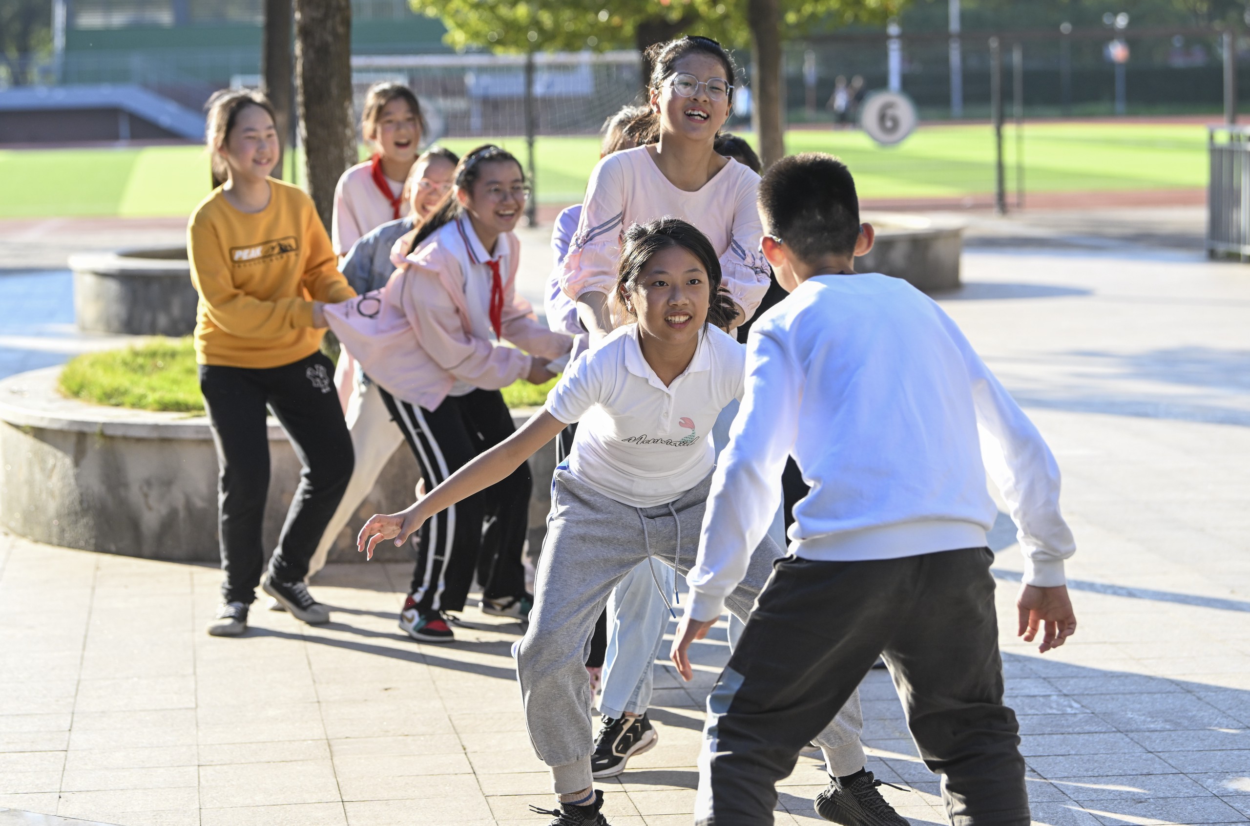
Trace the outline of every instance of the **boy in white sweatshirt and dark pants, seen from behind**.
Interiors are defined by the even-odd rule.
[[[951,822],[1028,826],[1019,727],[1002,705],[986,470],[1020,526],[1019,634],[1040,631],[1046,651],[1076,630],[1059,467],[932,300],[854,271],[872,227],[860,224],[840,161],[779,161],[759,205],[761,249],[791,295],[748,341],[745,400],[712,477],[672,646],[686,679],[690,642],[720,615],[776,512],[786,455],[811,492],[795,505],[790,556],[708,699],[696,822],[771,824],[776,781],[880,655],[921,757],[942,776]],[[848,792],[879,782],[870,772],[835,779],[816,811],[874,824]]]

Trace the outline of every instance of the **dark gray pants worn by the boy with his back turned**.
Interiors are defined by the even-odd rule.
[[[695,822],[772,824],[776,782],[881,655],[952,826],[1029,826],[992,561],[970,547],[778,564],[708,697]]]

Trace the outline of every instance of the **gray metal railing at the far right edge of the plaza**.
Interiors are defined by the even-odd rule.
[[[1250,260],[1250,126],[1210,126],[1206,254]]]

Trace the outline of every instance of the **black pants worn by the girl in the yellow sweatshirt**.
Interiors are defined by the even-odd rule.
[[[260,584],[269,495],[265,416],[270,410],[304,470],[269,570],[284,582],[308,576],[309,560],[342,499],[355,461],[331,376],[334,362],[320,352],[281,367],[200,365],[200,392],[220,469],[218,531],[226,602],[250,605]]]

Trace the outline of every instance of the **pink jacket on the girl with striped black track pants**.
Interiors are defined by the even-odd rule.
[[[525,351],[544,359],[569,352],[572,339],[551,332],[516,295],[515,234],[499,236],[494,259],[468,217],[440,227],[411,255],[406,242],[391,252],[399,269],[385,287],[325,307],[334,334],[391,395],[434,410],[449,395],[499,390],[525,376],[532,364]],[[490,329],[488,260],[498,260],[504,276],[502,337],[524,351],[496,344]]]

